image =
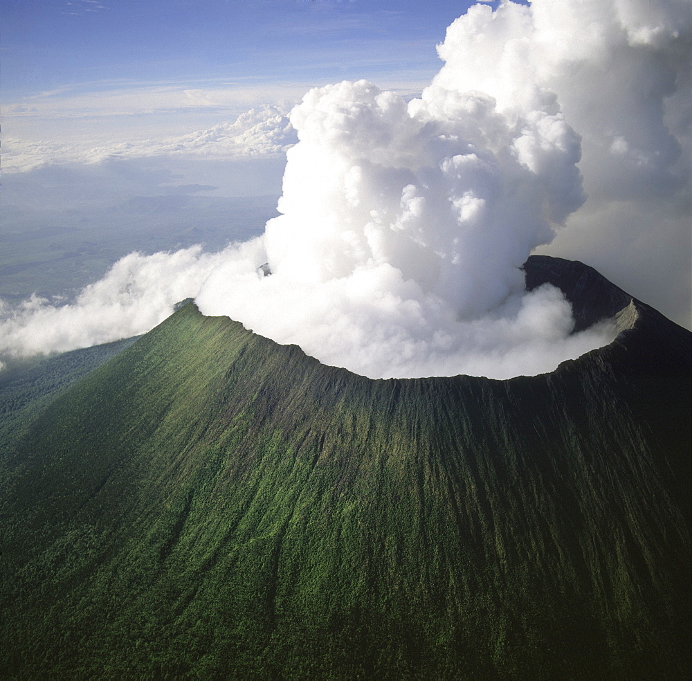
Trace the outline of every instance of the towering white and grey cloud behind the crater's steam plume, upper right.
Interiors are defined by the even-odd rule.
[[[506,116],[558,106],[588,199],[540,252],[585,260],[688,327],[691,35],[687,0],[476,6],[448,28],[433,82],[489,93]]]

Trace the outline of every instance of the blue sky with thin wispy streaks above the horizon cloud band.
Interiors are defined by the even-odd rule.
[[[4,0],[4,129],[35,139],[98,136],[92,116],[136,114],[192,130],[359,78],[417,91],[439,69],[435,45],[446,26],[471,4]],[[75,127],[75,118],[84,125]]]

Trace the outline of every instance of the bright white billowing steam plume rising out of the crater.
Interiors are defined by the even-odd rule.
[[[549,15],[472,7],[408,104],[365,81],[310,91],[264,235],[272,274],[221,266],[201,310],[372,377],[531,374],[610,341],[570,335],[555,289],[523,291],[522,263],[586,198],[556,89],[574,55],[549,53],[565,18]]]

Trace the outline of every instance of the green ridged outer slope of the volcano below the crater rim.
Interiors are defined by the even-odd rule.
[[[2,453],[6,678],[688,678],[690,335],[372,381],[194,305]]]

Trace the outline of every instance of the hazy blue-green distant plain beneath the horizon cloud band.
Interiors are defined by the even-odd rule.
[[[133,172],[127,163],[6,176],[0,298],[13,307],[33,293],[70,302],[128,253],[195,244],[220,251],[261,234],[277,215],[278,193],[248,196],[251,187],[236,187],[241,195],[234,197],[219,195],[229,192],[213,185],[181,181],[172,173]],[[278,192],[276,178],[273,185]],[[266,183],[258,186],[266,191]]]

